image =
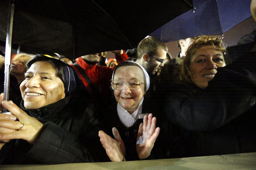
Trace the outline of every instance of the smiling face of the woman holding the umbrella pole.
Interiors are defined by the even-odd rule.
[[[55,103],[65,97],[64,84],[45,61],[37,61],[25,73],[20,92],[26,109],[37,109]]]

